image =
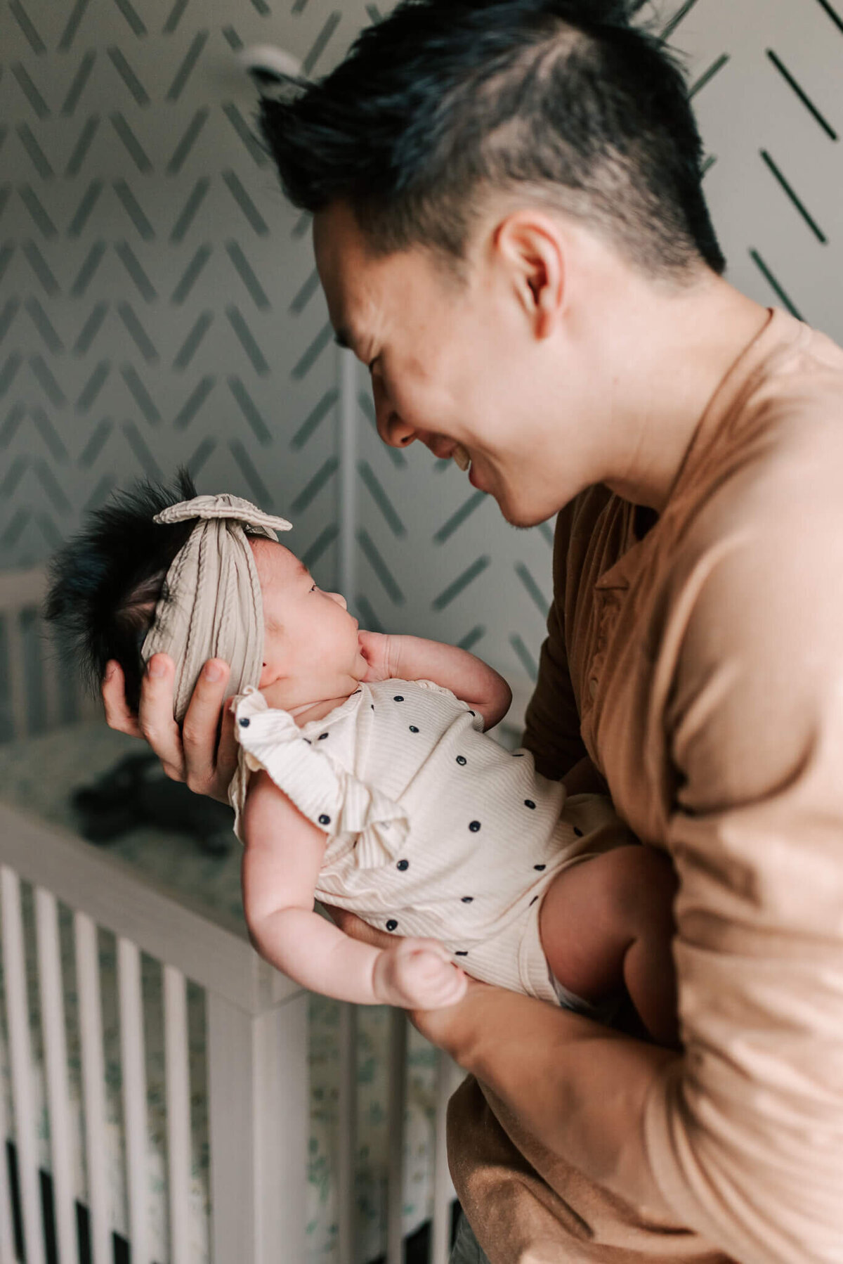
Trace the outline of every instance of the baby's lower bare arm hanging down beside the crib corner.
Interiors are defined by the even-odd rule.
[[[257,951],[302,987],[356,1005],[452,1005],[466,980],[435,939],[358,943],[313,911],[325,834],[265,772],[243,815],[243,905]]]

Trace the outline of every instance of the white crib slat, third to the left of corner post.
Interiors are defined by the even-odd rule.
[[[87,1200],[91,1213],[91,1255],[94,1264],[111,1264],[100,959],[96,925],[85,913],[73,914],[73,935],[76,942],[76,976],[80,994],[82,1088],[85,1095],[85,1163],[87,1168]]]

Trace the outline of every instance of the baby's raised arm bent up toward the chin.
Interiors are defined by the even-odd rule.
[[[360,632],[360,650],[370,669],[367,680],[432,680],[483,715],[484,728],[492,728],[509,710],[509,685],[468,650],[418,636],[377,632]]]

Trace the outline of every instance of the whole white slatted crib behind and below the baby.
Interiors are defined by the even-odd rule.
[[[73,700],[51,661],[34,664],[32,633],[42,600],[39,570],[0,575],[0,672],[5,657],[5,736],[25,738],[72,718]],[[27,676],[39,678],[35,686]],[[35,704],[33,704],[35,698]],[[33,712],[37,712],[33,715]],[[83,715],[83,710],[82,710]],[[68,729],[68,734],[75,731]],[[83,733],[85,728],[76,732]],[[0,734],[3,736],[3,734]],[[21,890],[32,885],[37,952],[25,943]],[[72,923],[78,991],[81,1106],[71,1101],[62,933]],[[71,923],[68,923],[68,918]],[[303,1264],[307,1149],[308,996],[253,952],[241,924],[183,896],[158,889],[109,853],[68,830],[0,803],[0,949],[5,977],[5,1042],[11,1079],[11,1116],[0,1095],[0,1264],[112,1264],[114,1224],[106,1189],[106,1096],[101,958],[97,933],[116,943],[116,1005],[125,1153],[126,1239],[131,1264],[196,1264],[191,1245],[191,1085],[188,981],[203,990],[210,1146],[209,1244],[214,1264]],[[97,930],[99,928],[99,930]],[[64,934],[67,956],[67,934]],[[161,963],[163,978],[163,1067],[166,1081],[167,1260],[149,1236],[147,1163],[145,1028],[142,954]],[[28,978],[29,969],[29,978]],[[34,973],[33,973],[34,972]],[[34,980],[34,981],[33,981]],[[43,1079],[49,1131],[49,1181],[44,1182],[40,1111],[32,1049],[33,987],[43,1035]],[[355,1241],[358,1014],[341,1007],[336,1264],[364,1264]],[[389,1176],[387,1264],[403,1260],[402,1121],[407,1021],[389,1015]],[[447,1259],[454,1191],[445,1158],[445,1109],[458,1068],[439,1058],[435,1088],[435,1169],[428,1239],[431,1264]],[[73,1178],[73,1120],[81,1109],[90,1253],[80,1245],[78,1197]],[[48,1196],[44,1194],[48,1189]],[[124,1256],[125,1258],[125,1256]]]

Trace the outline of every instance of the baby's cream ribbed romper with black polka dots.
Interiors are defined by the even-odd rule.
[[[427,680],[361,685],[302,728],[255,690],[235,714],[238,832],[249,771],[265,769],[327,836],[317,900],[391,934],[439,939],[485,982],[556,1000],[541,896],[564,866],[628,841],[622,829],[607,837],[607,814],[617,818],[605,800],[566,804],[528,752],[506,751]]]

